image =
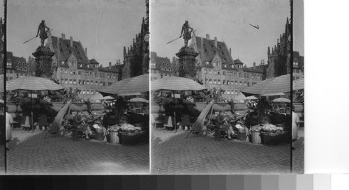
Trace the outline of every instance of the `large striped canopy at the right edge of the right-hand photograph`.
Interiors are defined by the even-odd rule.
[[[290,92],[290,74],[281,75],[272,79],[260,81],[257,84],[245,88],[242,93],[248,95],[265,95]]]

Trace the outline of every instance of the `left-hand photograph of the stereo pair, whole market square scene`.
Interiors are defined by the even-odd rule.
[[[7,10],[7,173],[149,173],[149,2]]]

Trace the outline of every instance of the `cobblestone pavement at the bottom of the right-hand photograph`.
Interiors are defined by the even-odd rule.
[[[151,173],[290,173],[290,144],[267,146],[248,141],[214,141],[211,136],[195,134],[185,139],[187,134],[153,130]],[[297,166],[299,171],[300,166]]]

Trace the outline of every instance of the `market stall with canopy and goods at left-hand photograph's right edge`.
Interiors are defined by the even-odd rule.
[[[103,118],[103,125],[107,128],[107,141],[124,145],[147,143],[149,141],[149,105],[133,111],[130,109],[128,99],[137,95],[142,96],[142,99],[137,97],[135,101],[148,101],[145,98],[149,97],[149,74],[117,81],[99,92],[105,96],[104,98],[110,96],[114,99],[110,104],[110,112]]]

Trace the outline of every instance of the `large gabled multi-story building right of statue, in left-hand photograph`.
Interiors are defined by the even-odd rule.
[[[96,59],[87,57],[87,49],[82,43],[74,41],[72,37],[66,39],[49,35],[47,45],[54,52],[52,57],[52,78],[64,88],[77,90],[83,99],[98,93],[98,90],[110,86],[118,81],[120,61],[116,65],[109,63],[103,68]]]

